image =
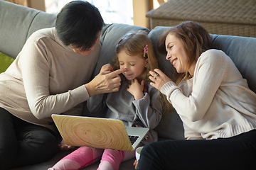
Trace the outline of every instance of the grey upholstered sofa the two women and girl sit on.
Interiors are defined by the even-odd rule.
[[[18,55],[18,52],[21,51],[23,44],[31,33],[41,28],[55,26],[55,18],[56,16],[53,14],[44,13],[32,8],[26,8],[0,0],[0,52],[15,58],[16,55]],[[115,46],[122,35],[131,30],[138,29],[146,30],[149,33],[149,38],[152,40],[154,50],[158,56],[159,68],[169,77],[173,77],[173,74],[170,71],[170,62],[165,60],[165,56],[160,55],[156,50],[156,43],[159,35],[161,35],[166,27],[156,27],[154,30],[149,31],[146,28],[118,23],[108,24],[102,29],[102,33],[100,35],[102,50],[92,77],[97,75],[103,64],[110,62],[114,56]],[[231,57],[242,73],[242,76],[247,79],[250,89],[256,92],[256,38],[225,35],[211,35],[211,37],[213,38],[213,47],[218,50],[223,50]],[[99,115],[93,115],[87,111],[85,105],[83,114],[101,117],[104,115],[104,112]],[[181,119],[176,114],[176,111],[165,113],[156,130],[159,134],[159,140],[184,140],[183,126]],[[33,164],[33,162],[31,162],[31,166],[25,166],[13,170],[46,170],[70,152],[71,151],[58,152],[58,154],[48,162],[43,162],[41,164]],[[133,162],[134,159],[122,162],[119,169],[134,169],[134,166],[132,165]],[[99,162],[83,169],[95,170],[97,169],[98,163]]]

